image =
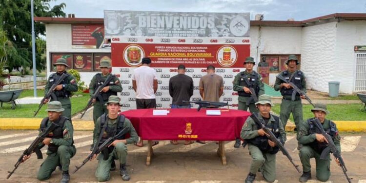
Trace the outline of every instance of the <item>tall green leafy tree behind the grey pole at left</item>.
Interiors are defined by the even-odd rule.
[[[49,2],[54,0],[34,0],[35,17],[65,17],[62,11],[65,3],[50,7]],[[56,0],[55,0],[56,1]],[[18,69],[32,68],[32,24],[31,24],[31,0],[0,0],[0,27],[7,32],[7,38],[12,42],[15,50],[8,53],[8,68]],[[41,59],[45,53],[45,46],[39,36],[45,35],[45,26],[35,22],[36,35],[36,65],[37,70],[45,68],[45,60]],[[43,50],[44,49],[44,50]]]

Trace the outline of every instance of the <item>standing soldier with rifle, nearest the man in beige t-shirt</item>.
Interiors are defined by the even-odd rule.
[[[258,112],[257,107],[255,106],[255,102],[251,97],[251,91],[249,88],[253,88],[255,91],[255,95],[257,97],[264,94],[264,84],[262,82],[262,76],[257,72],[253,71],[253,66],[255,61],[253,57],[247,57],[244,61],[245,71],[238,73],[233,81],[233,89],[238,92],[238,100],[239,100],[239,110],[246,111],[249,107],[249,111],[251,113]],[[248,101],[250,100],[250,101]],[[249,105],[246,104],[249,103]],[[240,139],[235,140],[234,144],[235,148],[240,147]]]

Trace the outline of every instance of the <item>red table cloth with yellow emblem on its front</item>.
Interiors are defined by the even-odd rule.
[[[168,109],[166,116],[153,116],[153,109],[122,112],[143,140],[232,141],[250,113],[235,109],[220,109],[220,116],[207,116],[201,109]],[[212,109],[209,109],[212,110]],[[216,109],[218,110],[218,109]]]

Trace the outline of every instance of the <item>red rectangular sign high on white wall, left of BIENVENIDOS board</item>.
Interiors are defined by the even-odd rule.
[[[72,25],[72,48],[99,48],[104,40],[103,24]]]

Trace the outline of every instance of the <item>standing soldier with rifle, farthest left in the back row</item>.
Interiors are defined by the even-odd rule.
[[[51,88],[52,84],[56,83],[61,75],[65,73],[67,78],[62,80],[62,82],[56,86],[55,88],[55,95],[57,97],[57,101],[61,102],[62,107],[65,109],[62,113],[62,116],[68,118],[71,120],[71,101],[70,96],[71,92],[78,91],[78,85],[76,83],[76,80],[74,76],[71,74],[68,74],[66,72],[66,67],[69,67],[66,63],[66,60],[63,58],[57,59],[56,63],[53,64],[56,66],[57,72],[54,74],[51,74],[50,77],[47,80],[46,86],[44,87],[44,93],[46,94],[48,90]],[[51,101],[53,99],[51,98]],[[44,100],[44,103],[47,103],[48,99]]]

